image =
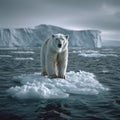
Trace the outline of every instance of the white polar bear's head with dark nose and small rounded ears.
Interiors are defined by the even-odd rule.
[[[53,34],[52,35],[52,45],[54,46],[54,50],[57,52],[62,52],[68,48],[68,35],[64,34]]]

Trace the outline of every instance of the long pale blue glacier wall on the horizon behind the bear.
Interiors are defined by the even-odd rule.
[[[69,34],[69,47],[102,47],[101,32],[98,30],[74,31],[52,25],[0,29],[0,47],[40,47],[49,35],[56,33]]]

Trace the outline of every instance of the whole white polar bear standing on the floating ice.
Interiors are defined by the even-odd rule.
[[[41,47],[42,75],[65,79],[68,64],[68,35],[53,34]]]

